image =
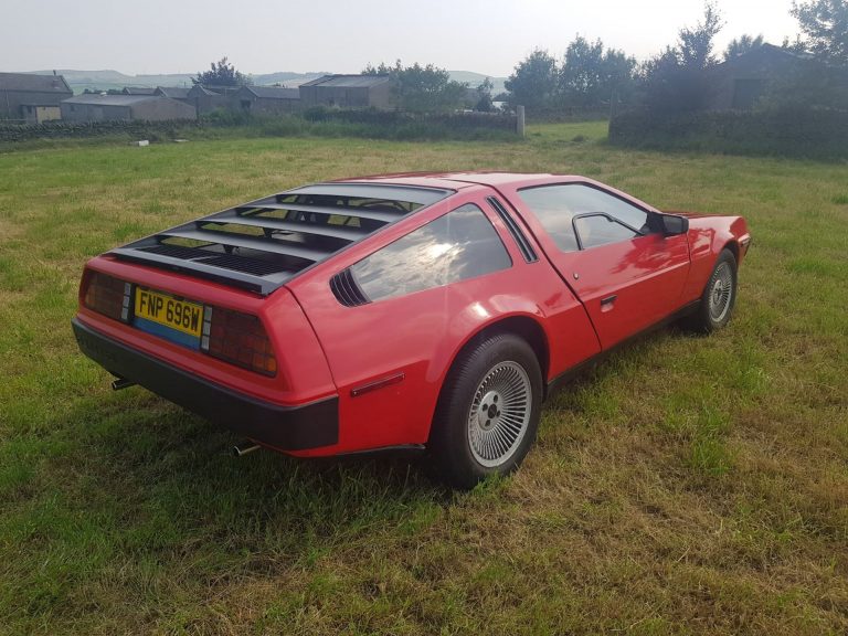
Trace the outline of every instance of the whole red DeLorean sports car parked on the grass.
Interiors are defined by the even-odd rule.
[[[470,487],[516,468],[575,370],[650,327],[723,327],[751,236],[583,177],[305,186],[85,267],[83,352],[297,456],[426,448]]]

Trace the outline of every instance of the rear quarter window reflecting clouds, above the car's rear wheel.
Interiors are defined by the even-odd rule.
[[[511,266],[495,227],[468,203],[374,252],[350,272],[370,300],[380,300]]]

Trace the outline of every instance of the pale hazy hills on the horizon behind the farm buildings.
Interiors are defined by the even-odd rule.
[[[35,73],[39,75],[52,75],[53,71],[25,71],[25,73]],[[124,88],[125,86],[187,86],[190,87],[191,78],[195,76],[184,73],[171,73],[161,75],[125,75],[119,71],[75,71],[73,68],[56,68],[59,75],[64,75],[65,81],[74,93],[82,93],[86,88],[108,91],[109,88]],[[474,73],[473,71],[448,71],[451,78],[456,82],[467,82],[468,86],[476,88],[487,75]],[[330,75],[330,71],[317,71],[309,73],[292,73],[280,71],[277,73],[266,73],[261,75],[251,75],[253,83],[257,86],[272,86],[274,84],[284,84],[290,88],[299,86],[304,82],[309,82],[321,75]],[[490,77],[495,85],[492,93],[497,95],[504,92],[504,82],[506,77]]]

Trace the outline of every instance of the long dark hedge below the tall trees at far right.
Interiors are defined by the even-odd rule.
[[[610,123],[610,141],[630,148],[841,159],[848,158],[848,112],[709,110],[660,118],[632,110]]]

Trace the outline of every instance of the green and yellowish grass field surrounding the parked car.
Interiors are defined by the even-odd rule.
[[[848,166],[527,142],[206,140],[0,155],[0,634],[845,634]],[[743,213],[731,326],[638,341],[549,403],[513,477],[234,459],[113,393],[70,319],[86,258],[301,182],[582,173]]]

